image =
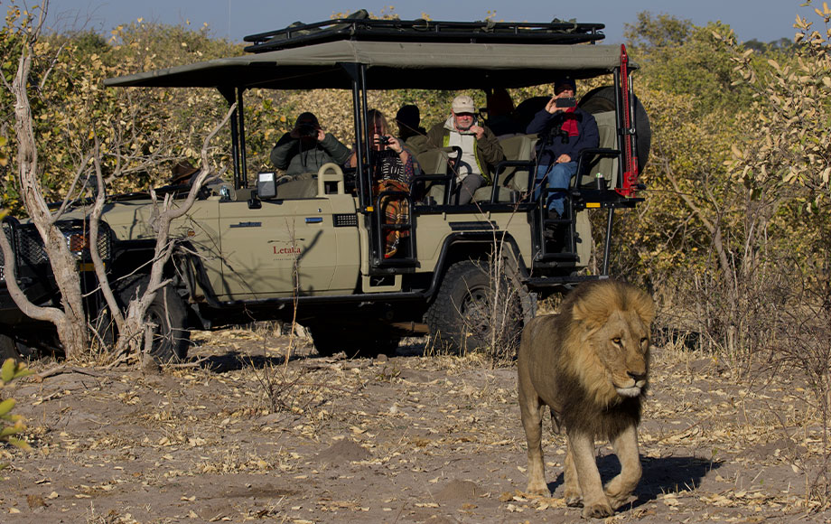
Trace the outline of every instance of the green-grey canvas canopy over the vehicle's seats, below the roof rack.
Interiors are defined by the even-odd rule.
[[[519,88],[620,66],[620,47],[536,43],[324,42],[105,80],[118,87],[351,89],[345,64],[366,66],[367,89]],[[630,68],[632,64],[630,63]]]

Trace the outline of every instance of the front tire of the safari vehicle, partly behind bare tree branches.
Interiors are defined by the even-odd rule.
[[[148,279],[140,278],[118,294],[126,311],[135,295],[144,293]],[[187,330],[188,312],[182,297],[170,285],[160,289],[147,308],[145,323],[153,323],[153,343],[150,356],[159,363],[178,363],[185,360],[191,345],[191,332]]]

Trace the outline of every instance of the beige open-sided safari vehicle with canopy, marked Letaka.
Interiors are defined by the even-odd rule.
[[[154,304],[148,313],[166,335],[154,355],[182,359],[190,329],[293,318],[324,355],[394,351],[410,332],[430,332],[459,349],[509,343],[534,315],[538,297],[606,276],[614,211],[642,200],[638,173],[648,155],[649,123],[632,89],[633,66],[622,46],[598,43],[602,28],[350,17],[248,36],[245,56],[107,80],[111,88],[219,89],[229,104],[238,103],[230,126],[233,181],[210,184],[173,232],[180,249],[169,268],[167,307]],[[604,77],[610,85],[579,102],[597,119],[602,143],[581,156],[559,220],[547,219],[545,198],[532,198],[535,144],[544,136],[502,141],[508,160],[467,205],[453,202],[458,154],[445,148],[416,156],[422,174],[412,192],[371,192],[370,89],[513,89],[551,84],[560,75]],[[357,168],[327,164],[315,177],[288,181],[249,173],[245,137],[252,131],[242,110],[249,89],[350,90],[351,108],[343,110],[351,112],[362,153]],[[385,196],[407,202],[406,223],[385,223]],[[111,281],[137,272],[122,285],[126,296],[141,285],[141,267],[152,256],[151,207],[143,195],[110,200],[99,248]],[[586,271],[590,210],[608,217],[594,275]],[[68,241],[83,222],[66,222]],[[32,256],[41,252],[33,228],[15,221],[5,227],[33,300],[58,304],[45,260]],[[385,258],[384,238],[393,228],[405,245]],[[87,257],[83,250],[77,255],[80,262]],[[0,302],[2,332],[24,338],[25,318],[7,295]],[[504,329],[489,342],[496,323]]]

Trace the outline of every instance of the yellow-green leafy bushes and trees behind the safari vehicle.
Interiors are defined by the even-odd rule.
[[[664,340],[680,338],[708,351],[737,377],[760,369],[806,373],[827,443],[831,10],[823,4],[815,14],[797,21],[794,42],[770,44],[737,42],[723,24],[697,26],[668,15],[642,13],[628,27],[652,154],[642,173],[646,201],[617,222],[611,273],[658,299]],[[15,28],[22,16],[12,5],[0,28],[6,85],[20,55]],[[141,20],[108,37],[50,34],[35,51],[34,133],[50,201],[70,192],[96,139],[105,174],[123,173],[110,181],[110,192],[164,184],[176,162],[198,162],[202,138],[227,109],[210,90],[105,89],[104,79],[243,53],[205,27]],[[545,92],[511,94],[519,101]],[[483,93],[470,94],[484,106]],[[373,92],[369,105],[391,117],[416,103],[427,126],[444,119],[454,95]],[[308,108],[326,130],[351,143],[349,107],[343,91],[248,93],[251,173],[270,167],[271,146]],[[230,145],[222,140],[210,154],[215,164],[229,165]],[[19,214],[15,148],[14,98],[3,89],[2,207]]]

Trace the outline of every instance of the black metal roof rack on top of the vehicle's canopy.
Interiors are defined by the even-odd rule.
[[[377,42],[448,43],[551,43],[598,42],[605,38],[602,23],[576,23],[554,19],[528,22],[439,22],[434,20],[376,20],[366,11],[318,23],[295,22],[285,29],[246,36],[248,52],[277,51],[337,40]]]

